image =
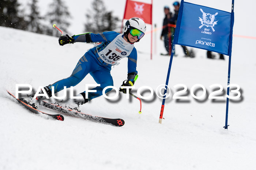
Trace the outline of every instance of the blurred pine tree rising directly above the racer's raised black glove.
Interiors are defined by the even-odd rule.
[[[46,17],[50,21],[50,24],[60,25],[63,32],[67,32],[67,28],[70,25],[68,20],[71,18],[70,13],[68,12],[68,7],[65,6],[63,0],[53,0],[49,5],[49,11],[46,14]],[[60,32],[57,29],[54,29],[53,36],[60,36]]]

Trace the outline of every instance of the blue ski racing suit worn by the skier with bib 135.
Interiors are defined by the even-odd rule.
[[[114,31],[72,36],[75,40],[74,42],[102,43],[97,47],[91,48],[80,58],[71,76],[49,85],[49,89],[53,90],[52,86],[54,86],[54,93],[56,93],[63,90],[64,86],[67,88],[76,86],[87,74],[90,74],[95,82],[101,84],[101,86],[91,89],[97,90],[97,92],[88,92],[88,100],[101,96],[103,88],[113,86],[113,79],[110,75],[111,67],[116,64],[116,61],[124,57],[128,57],[128,75],[134,73],[132,76],[128,76],[128,80],[129,78],[133,80],[138,73],[136,71],[137,51],[133,44],[129,44],[123,39],[123,36]],[[108,88],[105,93],[111,90],[112,88]]]

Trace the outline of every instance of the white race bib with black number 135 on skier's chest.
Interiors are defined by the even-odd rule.
[[[117,61],[129,56],[134,45],[127,43],[122,34],[116,36],[103,50],[98,50],[99,57],[108,64],[115,65]]]

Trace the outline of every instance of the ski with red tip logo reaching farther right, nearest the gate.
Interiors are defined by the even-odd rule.
[[[75,110],[71,110],[71,109],[61,107],[61,105],[58,104],[58,103],[48,103],[48,102],[42,101],[42,106],[46,107],[46,108],[49,108],[51,110],[54,110],[54,111],[59,111],[61,113],[69,115],[69,116],[75,116],[75,117],[86,119],[86,120],[92,120],[94,122],[100,122],[100,123],[104,123],[104,124],[111,124],[111,125],[118,126],[118,127],[121,127],[121,126],[124,125],[124,120],[123,119],[111,119],[111,118],[103,118],[103,117],[100,117],[100,116],[93,116],[93,115],[89,115],[89,114],[85,114],[85,113],[82,113],[82,112],[78,112],[78,111],[75,111]]]

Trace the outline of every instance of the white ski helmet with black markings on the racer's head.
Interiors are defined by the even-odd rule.
[[[131,18],[126,21],[125,28],[124,28],[124,36],[128,39],[128,34],[131,33],[132,29],[138,29],[139,31],[136,32],[137,34],[133,34],[132,36],[138,36],[138,41],[144,36],[146,32],[146,24],[145,22],[140,18]],[[132,34],[132,33],[131,33]],[[136,42],[138,42],[136,41]],[[129,41],[129,43],[131,43]]]

